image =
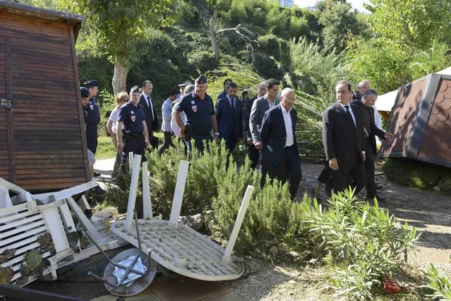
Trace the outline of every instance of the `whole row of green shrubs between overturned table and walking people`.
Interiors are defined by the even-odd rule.
[[[161,156],[148,154],[152,208],[162,218],[169,217],[177,167],[183,159],[187,159],[184,147],[178,143]],[[399,224],[377,201],[357,201],[349,190],[332,196],[327,207],[307,195],[292,203],[287,184],[267,179],[260,189],[260,174],[250,169],[247,159],[237,167],[230,158],[228,169],[226,160],[224,143],[210,143],[204,155],[193,153],[181,213],[204,213],[208,227],[204,231],[225,243],[244,191],[253,185],[255,191],[235,245],[237,254],[275,259],[269,251],[272,247],[285,250],[282,256],[292,251],[297,261],[326,264],[336,293],[363,300],[373,296],[383,276],[398,271],[407,252],[414,249],[416,230]],[[130,175],[122,175],[118,183],[124,190],[111,188],[108,194],[109,203],[121,212],[126,210]],[[136,208],[140,211],[142,191],[138,187]]]

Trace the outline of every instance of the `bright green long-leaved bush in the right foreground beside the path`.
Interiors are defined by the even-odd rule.
[[[351,300],[373,298],[383,276],[399,270],[419,238],[415,228],[401,225],[377,201],[356,201],[351,189],[333,195],[325,210],[307,198],[300,207],[308,240],[318,244],[318,254],[327,253],[335,292]]]

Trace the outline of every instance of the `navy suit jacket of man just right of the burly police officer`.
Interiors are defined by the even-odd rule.
[[[215,106],[215,117],[220,138],[236,140],[243,136],[243,103],[238,98],[235,99],[234,120],[229,98],[224,97],[217,100]]]

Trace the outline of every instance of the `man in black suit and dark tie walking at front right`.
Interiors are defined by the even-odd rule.
[[[352,90],[346,81],[339,81],[335,86],[335,98],[337,102],[323,113],[323,145],[332,170],[332,186],[337,193],[346,189],[352,179],[358,194],[366,184],[361,107],[349,104]]]

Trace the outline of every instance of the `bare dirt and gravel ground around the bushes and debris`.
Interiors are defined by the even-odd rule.
[[[311,195],[322,168],[323,165],[319,164],[302,165],[303,179],[297,196],[299,199],[305,192]],[[380,207],[387,208],[398,220],[407,221],[421,233],[417,252],[409,256],[409,265],[406,266],[410,269],[409,273],[399,276],[400,284],[409,288],[395,299],[387,297],[381,300],[424,300],[417,288],[417,285],[425,284],[422,283],[421,271],[427,271],[428,265],[434,264],[443,275],[451,275],[451,196],[403,187],[388,181],[385,175],[378,175],[376,182],[383,185],[383,189],[378,192],[386,198],[386,201],[379,203]],[[364,193],[363,191],[360,196],[364,196]],[[322,195],[321,199],[325,201],[325,196]],[[84,299],[104,295],[107,293],[104,285],[85,276],[88,269],[95,268],[101,272],[105,263],[100,257],[94,256],[84,261],[80,266],[87,268],[78,268],[56,283],[36,281],[29,287]],[[278,265],[247,258],[246,268],[248,271],[239,280],[223,283],[243,300],[339,300],[327,285],[328,272],[323,267],[291,263]],[[184,300],[191,299],[186,296]]]

